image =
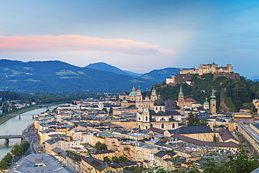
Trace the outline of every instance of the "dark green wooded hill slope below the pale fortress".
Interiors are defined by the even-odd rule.
[[[219,111],[235,112],[243,107],[251,108],[255,111],[252,100],[259,98],[259,83],[253,82],[241,76],[240,81],[218,77],[213,80],[213,74],[204,74],[192,78],[193,86],[182,84],[183,94],[186,98],[193,98],[203,104],[206,97],[208,101],[211,97],[212,88],[216,91],[217,108]],[[162,83],[157,86],[162,99],[178,99],[180,84],[172,87]],[[226,110],[229,109],[229,110]]]

